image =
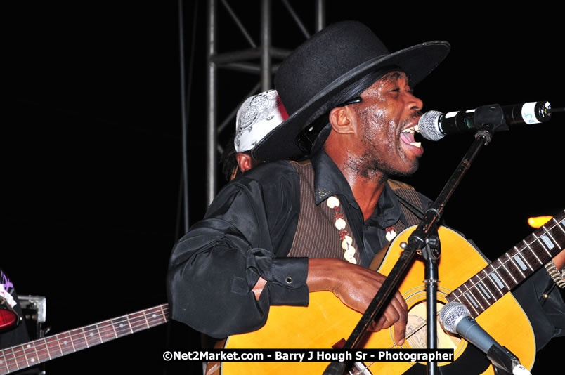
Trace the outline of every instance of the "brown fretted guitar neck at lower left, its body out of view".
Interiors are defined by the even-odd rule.
[[[169,305],[164,303],[136,313],[6,348],[0,350],[0,374],[25,369],[168,321]]]

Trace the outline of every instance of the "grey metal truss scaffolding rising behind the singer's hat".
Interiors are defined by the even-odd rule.
[[[230,4],[228,0],[207,0],[207,132],[206,132],[206,157],[207,157],[207,185],[206,185],[206,200],[207,204],[212,202],[216,195],[217,189],[217,170],[218,170],[218,155],[223,151],[222,145],[219,143],[219,135],[223,131],[229,129],[233,131],[235,124],[235,114],[238,111],[239,105],[249,96],[260,91],[273,88],[272,77],[276,72],[280,60],[285,58],[290,51],[277,48],[273,46],[273,33],[271,30],[273,15],[272,6],[275,1],[283,5],[289,20],[294,21],[294,25],[289,27],[298,27],[304,37],[308,39],[310,33],[307,31],[304,23],[301,21],[299,14],[291,6],[289,0],[245,0],[248,7],[260,8],[259,20],[253,20],[251,25],[244,25],[248,20],[242,20],[236,14],[233,1]],[[304,0],[301,1],[301,6],[304,6]],[[236,1],[238,6],[241,6],[240,0]],[[314,9],[315,19],[313,20],[314,32],[322,29],[325,25],[325,0],[311,1]],[[279,4],[276,4],[277,6]],[[223,7],[223,9],[220,9]],[[235,31],[232,25],[218,24],[218,12],[226,11],[235,24]],[[277,15],[278,17],[279,15]],[[259,42],[256,43],[250,36],[248,30],[252,27],[260,28]],[[249,48],[241,49],[239,51],[222,52],[219,51],[219,41],[222,39],[229,39],[233,32],[241,32],[243,37],[247,40]],[[218,86],[219,70],[226,70],[230,72],[247,72],[259,77],[257,83],[247,96],[239,100],[239,104],[230,111],[226,111],[221,107],[218,99]],[[229,78],[227,78],[229,79]],[[229,84],[229,82],[227,82]],[[225,119],[219,121],[219,113],[229,114]]]

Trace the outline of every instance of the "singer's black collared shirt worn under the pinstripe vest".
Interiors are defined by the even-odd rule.
[[[388,242],[385,229],[405,221],[394,192],[387,185],[375,213],[363,221],[332,159],[320,151],[312,165],[316,204],[339,197],[361,265],[368,266]],[[221,338],[262,327],[270,305],[308,305],[308,259],[286,257],[299,211],[299,175],[290,162],[257,166],[228,183],[173,250],[168,275],[173,319]],[[256,301],[251,290],[259,276],[267,284]]]

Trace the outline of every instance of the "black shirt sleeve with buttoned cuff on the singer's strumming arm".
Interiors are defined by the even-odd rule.
[[[286,257],[299,214],[294,182],[271,178],[274,192],[254,176],[228,184],[169,261],[172,318],[215,338],[259,329],[271,305],[309,301],[308,259]],[[267,283],[257,301],[259,277]]]

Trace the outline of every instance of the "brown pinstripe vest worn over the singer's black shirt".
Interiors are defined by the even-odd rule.
[[[314,202],[314,169],[311,162],[291,162],[291,164],[300,176],[300,214],[292,248],[287,256],[344,259],[342,239],[339,237],[339,230],[335,227],[334,209],[327,206],[326,201],[319,205]],[[394,231],[400,233],[405,228],[420,223],[420,218],[413,211],[421,211],[422,202],[420,202],[417,192],[410,185],[395,180],[388,180],[388,183],[401,202],[401,210],[408,223],[408,225],[404,225],[399,220],[393,225]],[[416,209],[409,206],[415,206]],[[346,222],[346,230],[351,233],[351,226],[347,221],[344,210],[342,209],[341,212]],[[353,239],[351,246],[357,249],[355,236],[352,233],[350,236]],[[384,253],[386,251],[380,251],[377,258],[382,259]],[[357,264],[361,263],[359,251],[356,251],[355,258]]]

